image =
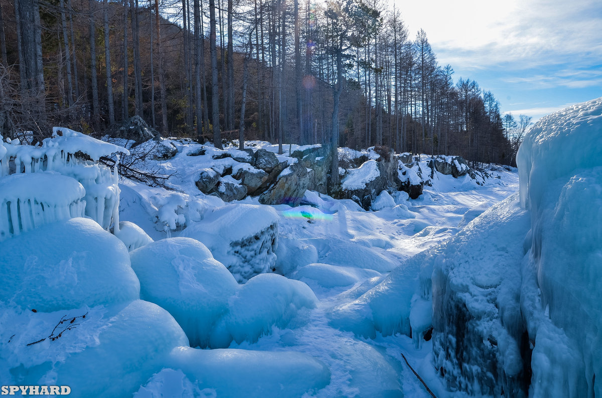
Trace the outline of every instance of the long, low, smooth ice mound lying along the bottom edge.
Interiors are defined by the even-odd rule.
[[[330,382],[328,368],[300,352],[178,347],[167,366],[218,397],[301,397]]]

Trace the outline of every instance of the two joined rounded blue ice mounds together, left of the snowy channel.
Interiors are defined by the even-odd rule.
[[[308,286],[280,275],[257,275],[238,285],[202,243],[186,237],[149,243],[133,251],[131,261],[141,298],[166,308],[192,346],[254,343],[317,304]]]

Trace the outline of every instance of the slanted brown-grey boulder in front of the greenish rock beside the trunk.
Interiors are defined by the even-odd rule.
[[[259,152],[259,151],[258,151]],[[297,206],[305,195],[311,176],[305,166],[294,163],[279,174],[273,186],[259,197],[261,204]]]

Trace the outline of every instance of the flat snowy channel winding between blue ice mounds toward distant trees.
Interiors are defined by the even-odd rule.
[[[448,191],[441,192],[442,189]],[[378,335],[374,340],[358,338],[352,332],[332,327],[329,313],[332,308],[352,302],[379,283],[387,274],[383,269],[389,268],[388,263],[398,265],[413,254],[447,239],[459,230],[458,224],[469,222],[517,189],[517,174],[504,173],[499,183],[479,189],[462,191],[461,187],[454,189],[453,186],[425,189],[427,194],[421,200],[412,201],[414,206],[409,207],[415,218],[397,218],[391,208],[378,212],[343,208],[330,221],[311,223],[306,219],[281,218],[281,236],[311,242],[317,248],[318,262],[361,270],[372,276],[375,273],[371,269],[376,269],[383,276],[366,277],[346,287],[328,287],[332,281],[319,278],[302,279],[320,299],[318,308],[305,321],[299,321],[305,323],[276,330],[255,344],[232,344],[231,347],[300,351],[320,359],[330,369],[331,382],[318,396],[430,397],[403,361],[403,353],[436,396],[451,396],[435,375],[430,361],[430,341],[423,341],[420,349],[416,349],[414,341],[405,335]]]

